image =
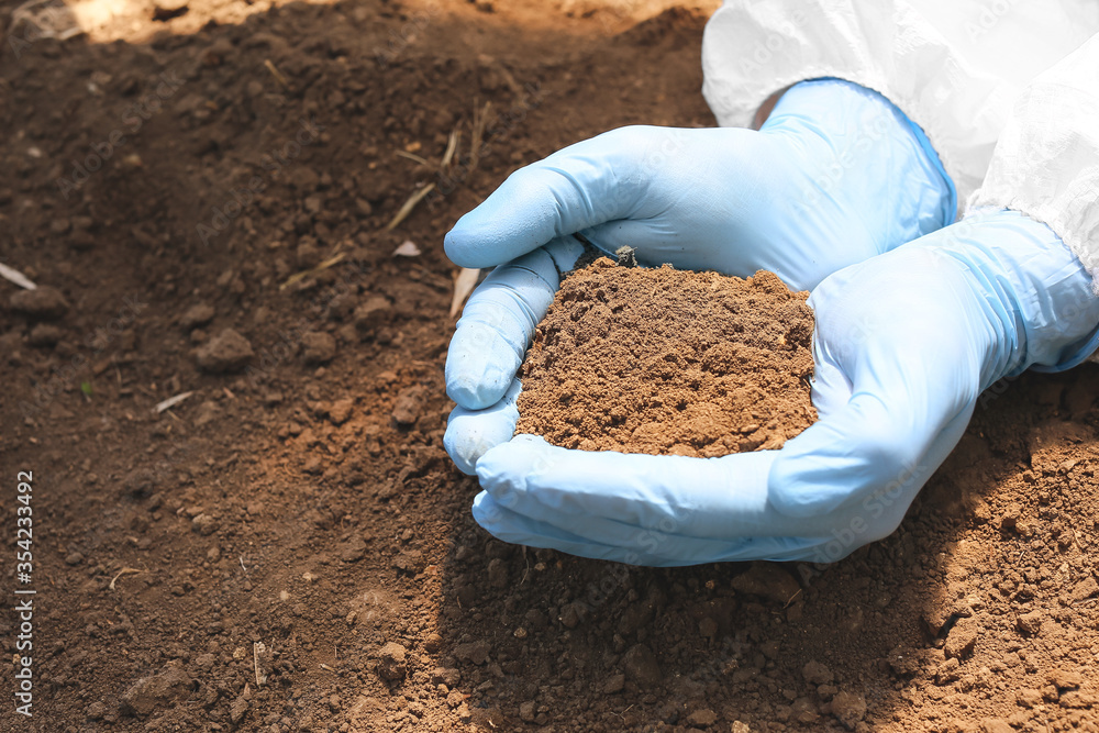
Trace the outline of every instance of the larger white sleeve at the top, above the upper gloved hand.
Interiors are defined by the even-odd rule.
[[[804,79],[878,91],[924,130],[963,202],[1026,85],[1096,33],[1094,0],[726,0],[706,26],[702,91],[719,124],[743,127]]]

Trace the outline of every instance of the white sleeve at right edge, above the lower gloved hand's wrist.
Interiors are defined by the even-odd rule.
[[[984,207],[1042,222],[1099,277],[1099,35],[1015,102],[985,182],[968,202]]]

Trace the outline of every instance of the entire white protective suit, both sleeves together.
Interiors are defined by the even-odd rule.
[[[959,207],[1022,211],[1099,277],[1099,0],[726,0],[702,68],[723,126],[804,79],[880,92]]]

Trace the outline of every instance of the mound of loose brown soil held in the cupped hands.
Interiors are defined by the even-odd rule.
[[[817,420],[813,312],[773,273],[569,275],[520,370],[517,433],[584,451],[713,457],[778,448]]]

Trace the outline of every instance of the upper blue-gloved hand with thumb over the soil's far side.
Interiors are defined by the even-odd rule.
[[[459,407],[447,451],[473,473],[510,437],[470,411],[513,410],[534,327],[582,249],[575,233],[607,253],[633,247],[642,264],[769,269],[810,289],[944,226],[955,209],[923,132],[880,95],[837,79],[793,86],[758,132],[623,127],[559,151],[446,235],[458,265],[509,263],[469,299],[451,342],[446,389]]]

